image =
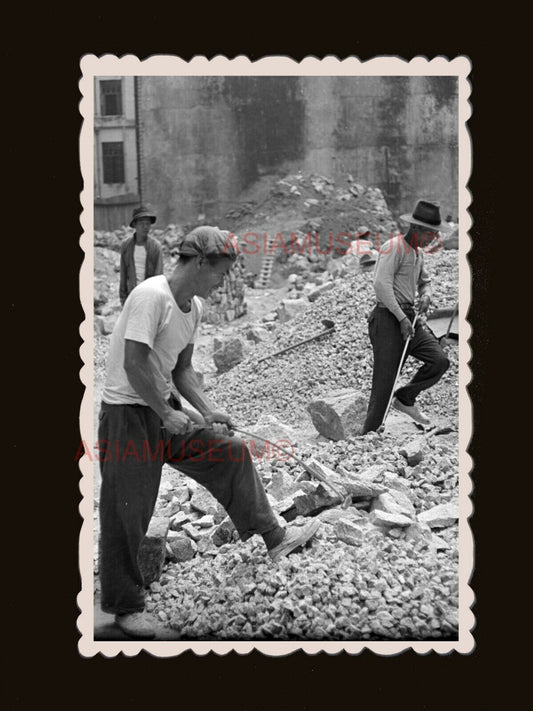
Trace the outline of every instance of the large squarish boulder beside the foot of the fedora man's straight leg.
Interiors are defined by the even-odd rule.
[[[356,435],[362,427],[367,400],[357,390],[335,390],[307,405],[318,432],[335,441]]]

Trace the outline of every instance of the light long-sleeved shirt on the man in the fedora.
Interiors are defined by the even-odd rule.
[[[401,321],[405,314],[400,304],[414,305],[417,290],[419,296],[431,295],[423,251],[417,252],[403,235],[396,235],[379,249],[374,270],[376,298]]]

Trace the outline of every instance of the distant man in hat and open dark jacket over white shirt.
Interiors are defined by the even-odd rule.
[[[161,245],[148,234],[155,221],[156,216],[147,205],[141,205],[133,211],[130,227],[135,232],[120,247],[119,296],[123,306],[137,284],[163,273]]]

